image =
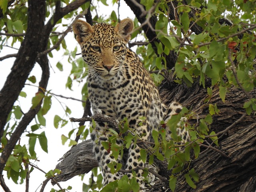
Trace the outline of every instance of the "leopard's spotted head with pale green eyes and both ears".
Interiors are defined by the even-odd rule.
[[[126,44],[133,28],[133,21],[129,18],[120,21],[115,27],[104,23],[91,26],[83,20],[74,23],[75,38],[81,46],[91,76],[109,80],[118,73],[124,63]]]

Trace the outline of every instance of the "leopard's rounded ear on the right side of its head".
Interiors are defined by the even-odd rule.
[[[123,19],[116,25],[116,32],[118,32],[121,39],[124,39],[126,43],[131,38],[132,30],[134,29],[133,21],[130,18]]]

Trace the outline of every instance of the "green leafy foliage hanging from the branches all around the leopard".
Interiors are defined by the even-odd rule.
[[[10,4],[9,4],[10,2]],[[45,20],[52,20],[53,15],[58,10],[58,6],[68,7],[71,3],[76,1],[71,0],[46,0],[46,15]],[[156,4],[155,4],[156,2]],[[115,0],[106,1],[98,0],[86,2],[80,5],[79,9],[67,12],[63,18],[60,18],[53,24],[52,31],[48,36],[47,56],[49,58],[56,57],[50,48],[54,45],[55,50],[59,54],[66,57],[66,61],[71,66],[70,74],[67,77],[66,83],[60,82],[66,86],[67,89],[72,90],[75,82],[83,84],[81,91],[81,100],[86,101],[88,98],[87,86],[83,79],[90,68],[83,61],[79,55],[79,48],[69,50],[68,39],[61,39],[70,30],[66,23],[71,24],[74,18],[82,13],[90,6],[92,12],[92,20],[94,23],[108,22],[116,24],[119,19],[117,11],[113,10],[110,16],[99,15],[97,12],[98,6],[108,6],[112,9],[112,5],[116,3]],[[118,1],[118,3],[124,3]],[[144,6],[147,17],[156,18],[154,25],[156,38],[149,39],[146,32],[142,31],[142,26],[149,24],[149,20],[144,20],[144,23],[138,21],[138,16],[134,20],[136,30],[132,34],[132,41],[143,39],[145,44],[136,48],[136,53],[141,57],[144,66],[150,71],[154,82],[158,85],[164,79],[164,70],[170,70],[170,66],[175,66],[176,80],[180,83],[184,80],[188,86],[192,86],[195,80],[199,80],[200,84],[207,88],[208,98],[205,103],[208,104],[212,97],[212,90],[216,87],[219,89],[219,96],[225,102],[225,96],[228,88],[236,86],[244,91],[248,96],[248,101],[244,103],[243,107],[248,115],[255,115],[256,98],[251,96],[249,92],[256,87],[256,14],[254,0],[187,0],[187,4],[182,4],[181,1],[154,1],[141,0],[140,4]],[[26,36],[24,33],[28,30],[28,4],[27,0],[0,0],[1,19],[1,35],[0,36],[0,50],[4,50],[6,46],[12,48],[20,46]],[[102,5],[103,4],[103,5]],[[170,10],[174,11],[174,17],[170,17]],[[149,13],[149,14],[148,14]],[[172,13],[173,14],[173,13]],[[126,15],[122,15],[126,17]],[[64,31],[64,32],[62,32]],[[66,32],[66,33],[65,33]],[[60,41],[61,39],[61,41]],[[150,42],[148,44],[148,42]],[[177,56],[174,64],[170,64],[167,60],[170,54]],[[1,58],[1,60],[4,58]],[[58,61],[56,67],[63,71],[63,64]],[[206,84],[206,79],[210,79],[210,85]],[[25,84],[24,84],[25,85]],[[44,132],[47,119],[46,114],[51,109],[53,102],[58,102],[58,95],[56,96],[51,90],[46,90],[39,86],[36,76],[29,76],[26,81],[26,86],[37,86],[38,92],[30,93],[21,91],[16,98],[16,102],[12,105],[7,123],[4,126],[4,131],[1,139],[1,149],[3,152],[7,146],[8,141],[14,135],[17,126],[25,118],[26,113],[21,108],[19,101],[22,98],[30,96],[31,110],[38,112],[36,116],[32,117],[32,124],[26,124],[26,132],[22,136],[28,138],[28,144],[21,146],[15,144],[11,150],[8,160],[5,162],[4,171],[6,171],[8,179],[12,179],[14,183],[23,183],[26,174],[29,171],[26,166],[30,162],[37,160],[38,155],[35,151],[36,141],[38,140],[40,147],[44,152],[48,152],[48,140]],[[63,110],[54,116],[53,126],[59,129],[68,124],[68,118],[72,111],[66,104],[60,103]],[[85,106],[85,102],[82,102]],[[219,113],[216,104],[208,104],[209,113],[205,118],[200,119],[198,124],[188,125],[180,124],[180,120],[184,117],[194,118],[196,114],[184,108],[180,114],[172,116],[167,125],[172,130],[173,140],[168,141],[165,138],[165,129],[159,132],[153,131],[154,146],[148,150],[141,149],[141,160],[146,161],[149,157],[149,163],[154,162],[154,158],[158,160],[165,160],[168,162],[168,169],[172,170],[172,175],[169,177],[168,186],[172,191],[176,188],[176,176],[180,172],[185,172],[186,182],[191,188],[196,188],[198,182],[198,174],[190,167],[190,161],[196,159],[200,153],[200,144],[205,138],[210,138],[214,144],[218,146],[218,133],[209,132],[212,124],[212,116]],[[64,114],[64,115],[62,115]],[[62,115],[62,116],[61,116]],[[130,145],[140,138],[129,132],[128,123],[124,119],[120,122],[120,132],[125,133],[124,147],[129,148]],[[177,136],[176,129],[186,127],[189,131],[191,142],[180,145],[181,138]],[[164,128],[164,124],[162,124]],[[70,130],[68,135],[62,135],[62,144],[69,141],[69,146],[77,144],[78,140],[74,140],[72,135],[77,132],[81,140],[85,140],[89,134],[90,128],[88,126],[79,126]],[[123,153],[123,148],[115,145],[115,141],[120,135],[115,130],[110,130],[113,136],[109,141],[104,142],[104,148],[112,150],[114,157]],[[15,142],[16,143],[16,142]],[[161,152],[159,152],[161,151]],[[193,151],[193,156],[190,152]],[[120,170],[121,166],[114,163],[109,165],[111,171],[116,172]],[[117,167],[117,168],[115,168]],[[32,170],[30,170],[31,172]],[[148,170],[145,170],[147,172]],[[54,178],[58,170],[50,170],[46,177]],[[89,184],[84,184],[83,191],[94,190],[102,188],[102,176],[97,169],[92,171],[93,177],[90,178]],[[94,179],[96,178],[96,181]],[[104,187],[102,191],[138,191],[138,183],[135,179],[128,180],[123,177],[120,181],[111,183]],[[68,187],[66,190],[70,190]],[[57,191],[52,189],[52,191]],[[64,189],[60,190],[64,191]]]

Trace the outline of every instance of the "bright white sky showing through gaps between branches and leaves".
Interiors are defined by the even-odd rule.
[[[96,5],[97,1],[94,1],[94,6]],[[117,10],[118,5],[114,4],[112,6],[112,0],[107,0],[107,3],[109,4],[108,7],[102,5],[99,3],[98,13],[106,16],[110,16],[112,10]],[[94,12],[92,12],[94,16]],[[117,11],[116,11],[117,14]],[[126,17],[130,17],[134,19],[134,14],[130,10],[128,6],[126,6],[124,1],[121,1],[121,10],[120,10],[120,19],[124,19]],[[78,46],[76,40],[74,39],[74,35],[72,33],[69,33],[66,38],[66,44],[69,50],[73,50],[75,46]],[[10,44],[10,43],[9,43]],[[18,48],[18,46],[15,46]],[[0,52],[0,57],[5,56],[6,54],[12,54],[17,52],[14,49],[4,47],[3,50]],[[80,47],[78,47],[78,52],[80,52]],[[83,83],[78,84],[77,82],[73,82],[72,89],[73,91],[70,91],[69,89],[66,89],[65,84],[67,81],[67,77],[70,74],[71,64],[67,62],[67,58],[63,56],[63,51],[52,51],[52,54],[54,58],[49,58],[51,69],[50,69],[50,80],[48,83],[47,90],[51,90],[52,93],[60,94],[66,97],[73,97],[77,99],[81,99],[81,89],[83,86]],[[63,72],[60,72],[56,68],[57,62],[60,61],[63,64]],[[10,69],[12,68],[12,64],[14,62],[14,58],[9,58],[6,60],[3,60],[0,62],[0,89],[2,89],[4,82],[6,80],[6,77],[10,73]],[[36,64],[30,74],[30,76],[34,75],[36,76],[36,85],[38,85],[38,82],[40,81],[40,73],[41,69],[38,64]],[[30,83],[31,84],[31,83]],[[37,92],[37,88],[33,86],[26,86],[22,91],[27,93],[27,98],[20,99],[20,106],[23,110],[23,112],[26,112],[29,110],[31,106],[31,99],[34,96],[34,94]],[[66,100],[64,98],[58,98],[60,102],[63,102],[66,104],[72,111],[72,114],[70,117],[80,118],[83,114],[83,108],[80,102],[74,101],[74,100]],[[41,132],[46,132],[46,137],[48,138],[48,154],[44,152],[37,140],[36,142],[36,152],[38,156],[38,162],[34,162],[39,168],[44,170],[45,172],[48,172],[49,170],[52,170],[55,168],[56,164],[58,164],[59,158],[62,157],[62,155],[67,152],[70,147],[68,146],[68,142],[63,146],[61,143],[61,135],[68,135],[68,132],[72,130],[72,128],[76,128],[78,126],[78,123],[71,123],[69,122],[68,125],[64,126],[63,128],[54,128],[53,126],[53,118],[56,114],[58,114],[60,117],[64,117],[64,110],[62,109],[60,103],[58,102],[54,97],[52,97],[52,107],[50,111],[44,116],[46,118],[46,127],[38,130],[36,133],[40,134]],[[67,119],[67,118],[66,118]],[[32,123],[31,125],[33,125]],[[30,125],[30,126],[31,126]],[[75,131],[76,132],[76,131]],[[75,135],[72,135],[73,139],[75,138]],[[20,144],[24,145],[28,143],[28,138],[26,136],[22,136],[20,139]],[[17,185],[12,180],[8,180],[6,177],[6,174],[4,172],[4,179],[7,184],[7,186],[10,188],[12,192],[25,192],[25,184]],[[88,176],[90,177],[90,173]],[[39,192],[41,188],[41,183],[45,180],[44,173],[40,172],[39,170],[34,170],[30,174],[30,187],[29,192]],[[85,183],[87,182],[88,177],[84,177]],[[60,185],[62,188],[67,188],[68,186],[72,186],[72,190],[70,192],[82,192],[82,182],[81,178],[76,176],[66,182],[60,182]],[[39,188],[38,188],[39,187]],[[38,188],[38,189],[37,189]],[[52,186],[50,182],[48,182],[44,192],[49,192],[51,188],[59,189],[58,186]],[[3,192],[4,190],[0,186],[0,192]]]

